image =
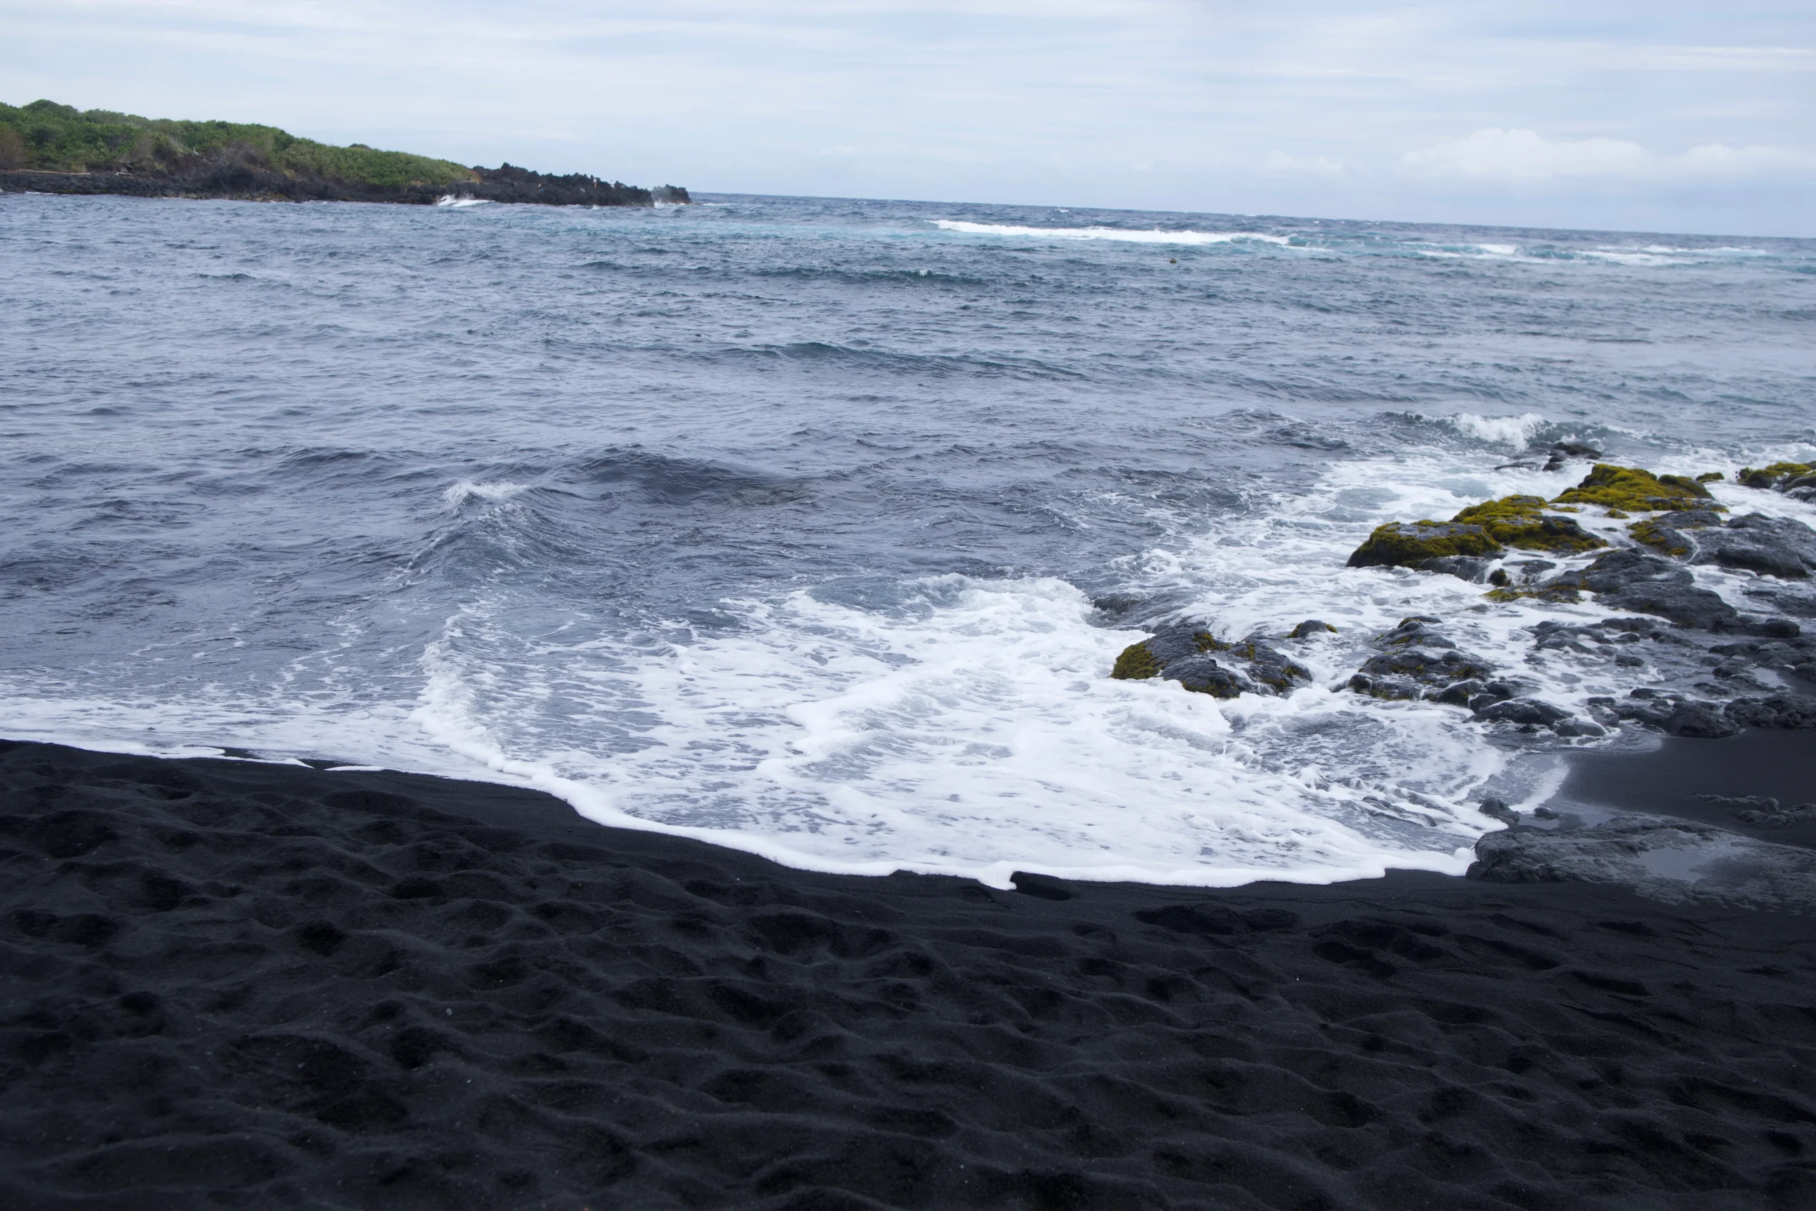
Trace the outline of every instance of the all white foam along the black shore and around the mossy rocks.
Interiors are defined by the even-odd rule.
[[[1533,414],[1444,419],[1502,445],[1544,425]],[[1130,592],[1184,601],[1182,614],[1217,634],[1262,634],[1306,665],[1313,684],[1288,697],[1217,701],[1173,683],[1111,681],[1115,655],[1146,632],[1104,628],[1073,585],[943,576],[906,585],[888,608],[803,590],[719,603],[735,628],[674,625],[661,635],[587,619],[527,634],[519,619],[532,603],[487,590],[447,619],[421,654],[421,679],[398,690],[374,690],[331,652],[303,657],[367,695],[401,690],[389,703],[305,695],[301,675],[258,699],[196,684],[143,703],[13,679],[0,703],[20,739],[160,755],[214,755],[225,739],[267,759],[536,786],[605,824],[812,870],[917,870],[992,886],[1015,870],[1191,886],[1462,873],[1473,841],[1495,826],[1476,797],[1491,786],[1518,797],[1518,784],[1505,792],[1520,770],[1464,710],[1347,692],[1373,639],[1407,615],[1438,617],[1464,650],[1578,714],[1649,675],[1535,652],[1540,621],[1605,617],[1593,599],[1498,603],[1451,576],[1344,566],[1380,521],[1449,517],[1515,492],[1549,499],[1584,470],[1482,463],[1480,450],[1436,447],[1335,463],[1306,492],[1126,559]],[[1734,470],[1656,465],[1712,468]],[[467,481],[445,501],[508,499],[516,487]],[[1772,492],[1714,492],[1736,512],[1816,519],[1811,505]],[[1611,537],[1624,525],[1600,510],[1578,517]],[[1736,605],[1751,583],[1714,568],[1698,577]],[[1288,641],[1306,617],[1338,630]],[[1544,792],[1544,770],[1525,777],[1525,790]]]

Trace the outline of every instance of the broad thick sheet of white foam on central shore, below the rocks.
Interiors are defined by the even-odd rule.
[[[1369,724],[1397,753],[1387,784],[1311,759],[1273,766],[1233,732],[1229,704],[1110,681],[1142,634],[1093,626],[1071,585],[937,577],[924,590],[895,615],[810,594],[732,603],[745,634],[643,655],[583,643],[534,683],[474,661],[490,646],[490,608],[478,608],[425,657],[416,721],[599,822],[854,873],[993,886],[1013,870],[1197,886],[1460,873],[1487,826],[1460,793],[1498,763],[1446,737],[1436,708]],[[521,726],[534,703],[588,683],[639,699],[652,723],[637,744],[538,746]],[[1355,703],[1311,690],[1237,710],[1313,732]]]

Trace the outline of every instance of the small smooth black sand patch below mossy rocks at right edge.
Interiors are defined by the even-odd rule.
[[[1645,752],[1571,753],[1569,775],[1553,797],[1571,802],[1676,815],[1760,841],[1816,848],[1816,812],[1789,828],[1758,828],[1732,806],[1703,795],[1765,795],[1791,808],[1816,801],[1816,732],[1745,730],[1720,741],[1658,737]]]

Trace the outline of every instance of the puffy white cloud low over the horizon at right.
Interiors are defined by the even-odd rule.
[[[1798,174],[1809,158],[1780,147],[1707,143],[1663,156],[1624,138],[1547,140],[1538,131],[1484,127],[1449,143],[1400,156],[1413,176],[1496,182],[1604,178],[1629,182],[1723,182],[1743,176]]]

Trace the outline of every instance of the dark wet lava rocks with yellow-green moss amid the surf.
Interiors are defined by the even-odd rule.
[[[1565,456],[1596,452],[1560,443],[1553,461]],[[1402,566],[1491,585],[1493,601],[1593,597],[1620,614],[1594,623],[1538,623],[1531,628],[1533,655],[1574,654],[1651,670],[1658,688],[1591,697],[1584,717],[1536,697],[1529,681],[1467,652],[1444,619],[1427,615],[1377,635],[1373,655],[1344,688],[1387,701],[1446,703],[1487,724],[1560,737],[1604,735],[1624,723],[1707,739],[1742,728],[1816,728],[1816,697],[1787,688],[1787,675],[1816,681],[1816,639],[1787,617],[1816,615],[1816,597],[1792,588],[1816,574],[1816,530],[1789,517],[1727,516],[1705,487],[1720,478],[1596,463],[1553,501],[1509,496],[1471,505],[1449,521],[1393,521],[1349,556],[1353,568]],[[1749,468],[1740,483],[1816,499],[1816,472],[1803,463]],[[1643,514],[1625,527],[1633,545],[1611,546],[1584,528],[1578,516],[1585,508],[1624,521]],[[1558,559],[1602,554],[1585,566],[1562,568],[1556,559],[1509,559],[1515,552]],[[1696,565],[1752,572],[1760,585],[1745,592],[1762,612],[1698,585]],[[1322,630],[1333,628],[1308,619],[1284,637],[1224,641],[1206,623],[1177,623],[1130,645],[1111,675],[1162,677],[1215,697],[1286,694],[1311,683],[1289,648]]]

